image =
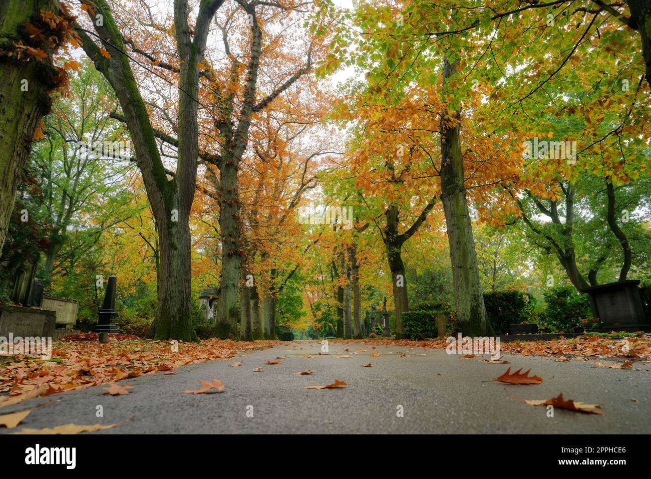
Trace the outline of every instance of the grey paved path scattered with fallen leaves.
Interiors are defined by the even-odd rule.
[[[320,347],[316,341],[294,341],[234,360],[184,366],[176,375],[150,373],[120,381],[134,386],[126,396],[101,396],[105,386],[96,386],[23,401],[0,408],[0,414],[62,398],[33,411],[18,429],[110,424],[133,417],[99,433],[651,433],[651,371],[596,368],[592,361],[561,363],[539,356],[505,355],[510,364],[488,364],[442,350],[385,345],[376,345],[381,356],[372,357],[371,345],[340,343],[330,343],[327,355],[306,357],[317,355]],[[356,349],[367,351],[353,355]],[[400,357],[400,352],[409,356]],[[335,358],[340,355],[350,357]],[[282,364],[253,371],[276,356],[287,357]],[[229,367],[237,360],[242,366]],[[371,368],[361,367],[369,362]],[[544,383],[490,381],[509,366],[512,371],[532,368]],[[634,367],[651,369],[648,362]],[[305,370],[314,374],[291,374]],[[200,380],[214,377],[226,386],[221,394],[184,394],[198,389]],[[335,379],[347,385],[303,388]],[[544,406],[509,398],[505,389],[525,399],[562,392],[566,399],[603,403],[607,415],[556,409],[554,417],[547,417]],[[97,405],[104,407],[103,418],[96,417]],[[398,405],[404,408],[403,417],[396,416]],[[253,417],[247,417],[247,406],[253,406]]]

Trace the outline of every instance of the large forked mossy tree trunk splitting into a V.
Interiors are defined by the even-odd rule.
[[[189,213],[195,194],[199,141],[197,98],[199,66],[206,48],[210,22],[223,0],[203,1],[193,35],[187,23],[187,0],[174,0],[174,33],[180,58],[178,139],[152,128],[145,102],[133,77],[125,41],[113,19],[106,0],[89,3],[95,14],[102,14],[102,25],[94,22],[101,45],[80,27],[77,33],[83,49],[95,67],[113,87],[124,113],[122,121],[131,134],[135,161],[145,184],[146,194],[156,220],[159,244],[159,291],[156,317],[148,332],[159,340],[196,340],[191,318],[191,237]],[[100,46],[110,55],[102,55]],[[173,178],[163,166],[156,138],[174,145],[178,160]]]

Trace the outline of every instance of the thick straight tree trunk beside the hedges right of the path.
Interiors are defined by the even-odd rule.
[[[443,59],[443,91],[458,61]],[[465,196],[464,159],[460,143],[460,112],[447,111],[441,121],[441,200],[450,245],[456,317],[464,336],[493,334],[486,317],[477,268],[475,241]]]

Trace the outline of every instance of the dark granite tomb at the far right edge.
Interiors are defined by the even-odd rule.
[[[590,297],[592,315],[602,323],[602,330],[640,331],[651,325],[644,318],[639,280],[626,280],[581,289]]]

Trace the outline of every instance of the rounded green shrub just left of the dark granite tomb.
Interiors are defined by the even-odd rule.
[[[539,323],[546,332],[581,332],[592,324],[588,295],[572,286],[557,286],[544,293],[547,308]]]

